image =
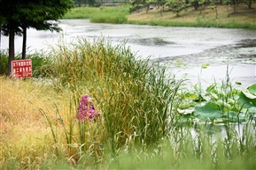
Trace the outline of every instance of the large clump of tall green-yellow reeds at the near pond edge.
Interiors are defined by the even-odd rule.
[[[112,151],[131,137],[135,145],[151,145],[165,137],[182,81],[167,80],[164,70],[136,60],[125,43],[78,41],[72,48],[60,45],[52,53],[53,81],[57,87],[95,98],[104,117],[104,140],[111,140]]]

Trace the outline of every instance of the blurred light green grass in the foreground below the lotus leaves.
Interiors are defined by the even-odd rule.
[[[247,128],[243,129],[246,131]],[[255,169],[255,133],[246,131],[245,134],[254,139],[246,143],[251,151],[244,152],[236,133],[228,139],[216,132],[209,133],[208,130],[205,125],[199,125],[194,133],[189,127],[177,128],[170,137],[149,150],[123,151],[125,153],[120,154],[118,159],[110,161],[109,168]]]

